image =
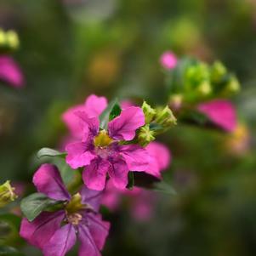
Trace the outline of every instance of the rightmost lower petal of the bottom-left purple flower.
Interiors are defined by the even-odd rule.
[[[103,221],[100,214],[88,213],[88,229],[94,238],[96,246],[101,250],[105,245],[105,238],[109,234],[110,223]]]

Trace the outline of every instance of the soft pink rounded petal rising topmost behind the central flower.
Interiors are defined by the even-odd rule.
[[[84,107],[88,114],[88,117],[99,117],[107,106],[107,100],[105,97],[99,97],[97,95],[88,96],[85,101]]]

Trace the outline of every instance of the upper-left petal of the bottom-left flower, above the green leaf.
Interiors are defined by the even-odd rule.
[[[49,163],[44,163],[33,177],[37,191],[55,200],[70,200],[71,196],[65,189],[58,168]]]

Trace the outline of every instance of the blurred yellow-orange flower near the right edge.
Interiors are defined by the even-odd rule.
[[[225,148],[234,155],[245,155],[250,145],[250,134],[245,124],[238,123],[235,130],[225,138]]]

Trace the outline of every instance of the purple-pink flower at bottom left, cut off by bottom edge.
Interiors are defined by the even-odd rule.
[[[101,219],[99,191],[85,186],[80,193],[71,196],[65,189],[59,170],[51,164],[43,164],[34,175],[37,191],[65,207],[56,212],[43,212],[29,222],[22,219],[20,236],[39,247],[44,256],[64,256],[80,241],[79,256],[100,256],[110,224]]]

